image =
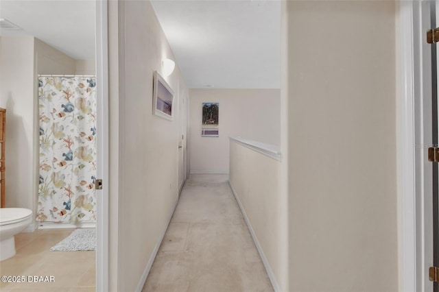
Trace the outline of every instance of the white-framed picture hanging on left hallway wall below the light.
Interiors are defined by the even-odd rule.
[[[154,97],[152,112],[158,117],[172,121],[174,119],[174,91],[157,71],[154,71],[152,95]]]

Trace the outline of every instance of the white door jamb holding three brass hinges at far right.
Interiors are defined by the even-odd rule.
[[[420,149],[416,156],[416,291],[433,291],[433,282],[429,281],[428,268],[433,265],[433,169],[427,160],[427,148],[432,144],[431,116],[431,45],[427,44],[426,32],[431,28],[431,1],[420,1],[418,45],[420,51],[420,92],[416,97],[416,131],[420,138]]]

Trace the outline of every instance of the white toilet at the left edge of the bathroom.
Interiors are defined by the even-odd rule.
[[[0,261],[15,255],[14,235],[32,223],[32,210],[0,208]]]

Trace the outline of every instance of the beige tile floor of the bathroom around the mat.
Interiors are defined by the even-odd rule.
[[[52,283],[0,282],[0,291],[95,291],[95,252],[50,252],[73,229],[43,229],[15,236],[16,256],[0,262],[0,276],[54,276]]]

